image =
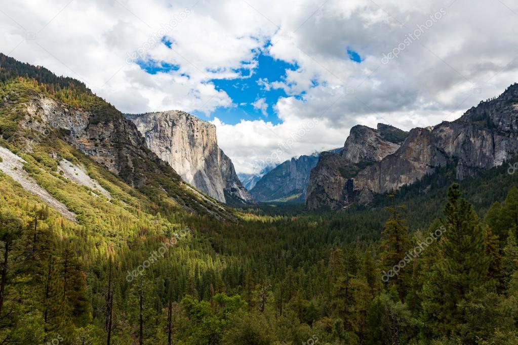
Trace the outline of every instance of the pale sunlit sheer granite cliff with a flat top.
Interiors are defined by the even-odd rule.
[[[149,149],[186,182],[220,202],[252,201],[231,159],[218,147],[214,125],[182,111],[125,116],[135,123]]]

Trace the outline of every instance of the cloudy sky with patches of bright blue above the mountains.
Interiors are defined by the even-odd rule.
[[[0,51],[124,113],[217,127],[239,173],[356,124],[452,121],[518,82],[511,0],[2,0]]]

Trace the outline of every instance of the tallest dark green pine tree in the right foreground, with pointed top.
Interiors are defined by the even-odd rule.
[[[451,335],[465,320],[457,304],[487,283],[490,260],[485,232],[471,205],[461,198],[458,184],[448,190],[444,216],[439,258],[426,275],[422,295],[427,332]]]

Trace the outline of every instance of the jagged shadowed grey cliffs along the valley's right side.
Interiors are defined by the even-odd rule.
[[[367,203],[447,166],[458,180],[499,166],[518,151],[518,84],[453,122],[406,133],[356,126],[340,154],[322,155],[311,172],[310,209]]]

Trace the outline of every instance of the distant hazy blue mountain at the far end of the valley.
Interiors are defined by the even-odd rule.
[[[265,174],[250,193],[258,201],[304,202],[309,174],[318,159],[315,154],[286,160]]]

